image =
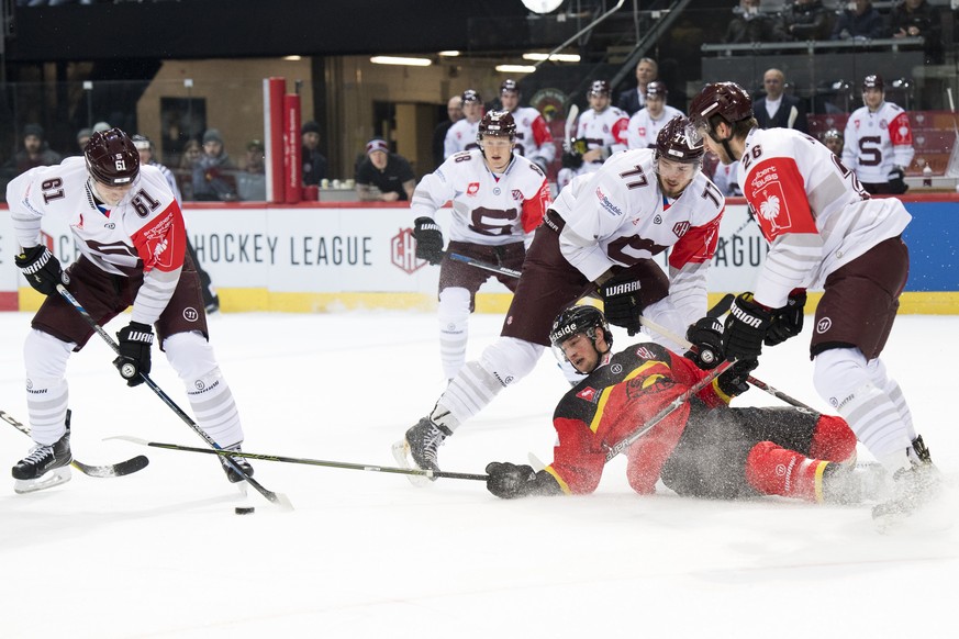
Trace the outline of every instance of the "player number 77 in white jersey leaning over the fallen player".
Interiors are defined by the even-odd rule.
[[[533,370],[555,317],[583,295],[599,292],[607,320],[631,333],[640,314],[677,333],[699,325],[725,200],[700,170],[702,141],[693,143],[687,130],[678,117],[655,149],[616,154],[564,189],[526,253],[500,338],[394,445],[398,460],[437,470],[439,445]],[[667,277],[653,258],[670,247]]]

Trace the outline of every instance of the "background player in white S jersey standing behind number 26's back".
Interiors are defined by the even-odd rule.
[[[856,171],[872,194],[905,193],[905,169],[916,153],[910,116],[902,107],[885,101],[882,76],[866,76],[862,102],[846,121],[843,164]]]

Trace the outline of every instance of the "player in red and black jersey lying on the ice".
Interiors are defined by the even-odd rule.
[[[487,466],[487,487],[500,497],[593,492],[606,452],[705,374],[653,343],[613,355],[610,326],[592,306],[560,313],[550,339],[557,357],[586,378],[553,415],[558,436],[553,463],[539,471]],[[871,498],[882,485],[873,472],[879,469],[856,469],[856,436],[843,418],[793,407],[729,408],[729,400],[748,389],[746,378],[755,367],[756,360],[733,365],[626,449],[633,490],[650,494],[662,479],[680,495],[706,498]]]

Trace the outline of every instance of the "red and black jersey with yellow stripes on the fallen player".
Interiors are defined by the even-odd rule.
[[[690,360],[653,343],[605,356],[605,362],[567,392],[556,407],[553,426],[559,442],[546,471],[566,493],[593,492],[609,448],[642,428],[705,374]],[[714,382],[636,440],[626,450],[633,489],[642,494],[654,492],[691,411],[728,401]]]

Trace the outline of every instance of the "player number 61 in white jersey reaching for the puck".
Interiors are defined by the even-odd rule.
[[[65,373],[70,354],[83,348],[93,329],[58,293],[58,284],[101,325],[132,306],[130,323],[118,333],[120,355],[113,361],[130,386],[150,370],[155,325],[199,426],[223,448],[238,450],[239,415],[208,343],[199,278],[185,259],[179,204],[159,170],[141,167],[131,138],[119,128],[94,133],[83,157],[13,179],[7,202],[21,246],[14,262],[30,285],[46,295],[23,349],[35,446],[13,467],[15,490],[69,479]],[[68,224],[79,247],[79,259],[66,271],[41,243],[44,216]],[[231,459],[252,474],[246,460]],[[226,463],[224,470],[231,481],[244,479]]]

